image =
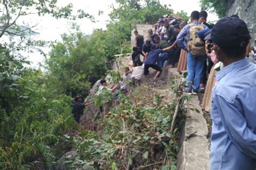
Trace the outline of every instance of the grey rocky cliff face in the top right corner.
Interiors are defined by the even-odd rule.
[[[251,33],[251,43],[256,39],[256,3],[255,0],[233,0],[226,16],[237,14],[243,19]]]

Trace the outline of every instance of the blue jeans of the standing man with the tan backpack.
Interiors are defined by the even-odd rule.
[[[197,91],[199,89],[205,60],[206,56],[195,57],[190,52],[187,52],[187,89],[190,88],[191,83],[193,83],[193,90]]]

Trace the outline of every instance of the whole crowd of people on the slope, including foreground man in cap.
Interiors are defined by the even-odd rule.
[[[211,169],[256,168],[256,41],[251,49],[247,25],[237,15],[207,23],[206,11],[193,11],[190,22],[160,17],[150,39],[136,36],[132,47],[132,69],[125,68],[120,86],[107,89],[118,98],[126,93],[127,80],[138,82],[163,67],[187,70],[185,94],[204,92],[202,109],[211,112]],[[141,59],[143,58],[143,59]],[[106,81],[100,81],[100,94]],[[81,107],[84,107],[83,104]]]

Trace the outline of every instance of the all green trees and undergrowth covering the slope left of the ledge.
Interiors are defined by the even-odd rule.
[[[35,8],[41,16],[48,13],[56,18],[93,19],[82,10],[72,15],[71,4],[59,8],[55,0],[1,2],[6,5],[2,11],[10,11],[1,17],[1,22],[5,23],[2,35],[9,28],[18,30],[16,20],[12,19],[29,15],[28,8]],[[99,120],[100,131],[84,130],[84,126],[76,125],[73,120],[72,97],[77,94],[86,97],[91,85],[111,69],[113,55],[131,51],[131,24],[154,23],[159,16],[172,13],[154,0],[117,3],[119,6],[113,8],[107,30],[95,30],[87,36],[77,25],[72,25],[71,33],[62,35],[62,42],[51,44],[44,72],[26,67],[29,62],[19,51],[28,47],[37,50],[46,42],[22,35],[16,43],[14,33],[10,43],[1,47],[0,169],[52,169],[71,149],[78,152],[78,157],[64,162],[70,168],[144,166],[153,162],[156,151],[152,149],[158,146],[159,153],[164,154],[161,158],[168,158],[158,166],[175,168],[178,147],[169,131],[172,112],[180,97],[176,84],[173,85],[178,88],[177,93],[169,103],[163,101],[159,93],[146,88],[136,90],[138,94],[145,92],[146,96],[135,92],[130,98],[120,95],[121,104]],[[19,9],[24,11],[17,13]],[[103,103],[102,98],[95,99],[97,106]],[[182,120],[183,105],[179,108]],[[105,131],[100,128],[103,125]],[[176,133],[178,129],[173,132]],[[143,158],[142,162],[136,162],[136,158]],[[92,161],[97,165],[92,166]]]

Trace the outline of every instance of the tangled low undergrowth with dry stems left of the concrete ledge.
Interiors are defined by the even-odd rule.
[[[174,92],[163,93],[150,86],[132,89],[129,97],[119,94],[120,104],[101,115],[97,130],[86,130],[70,139],[78,153],[66,158],[70,168],[95,169],[176,169],[179,151],[176,134],[183,127],[183,104],[179,105],[179,128],[170,130],[177,100],[182,96],[180,81],[173,82]],[[106,91],[102,100],[112,98]],[[97,97],[98,100],[98,97]],[[104,103],[104,102],[103,102]]]

